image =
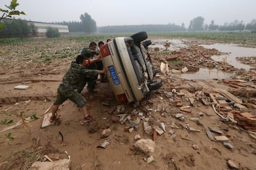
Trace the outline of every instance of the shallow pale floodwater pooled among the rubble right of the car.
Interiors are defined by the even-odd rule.
[[[187,47],[182,43],[181,40],[171,39],[171,40],[157,40],[155,44],[151,46],[159,47],[160,49],[166,49],[164,47],[164,42],[169,42],[170,47],[169,50],[181,49]],[[211,45],[202,45],[207,49],[217,49],[220,52],[227,52],[228,54],[224,55],[213,55],[211,59],[215,61],[224,61],[233,65],[233,67],[238,69],[250,70],[252,68],[250,65],[245,65],[238,60],[236,57],[256,57],[256,48],[249,47],[239,47],[236,44],[211,44]],[[181,74],[181,77],[184,79],[228,79],[234,76],[233,73],[227,73],[224,71],[218,71],[216,69],[208,69],[208,68],[200,68],[197,72],[187,72]]]

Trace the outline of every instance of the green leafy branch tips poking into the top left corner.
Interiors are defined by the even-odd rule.
[[[2,12],[2,16],[0,17],[0,21],[4,18],[12,18],[12,15],[26,15],[25,12],[23,11],[19,11],[19,10],[15,10],[16,7],[19,6],[19,3],[17,3],[17,0],[12,0],[10,6],[6,6],[8,9],[1,9],[0,8],[0,12]],[[0,23],[0,30],[4,28],[4,24]]]

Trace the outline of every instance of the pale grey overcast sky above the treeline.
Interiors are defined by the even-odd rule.
[[[11,0],[0,0],[0,8]],[[36,22],[80,22],[87,12],[97,26],[140,24],[185,24],[201,16],[204,23],[217,25],[234,20],[250,23],[256,19],[255,0],[18,0],[17,10],[26,20]],[[1,12],[0,12],[0,15]]]

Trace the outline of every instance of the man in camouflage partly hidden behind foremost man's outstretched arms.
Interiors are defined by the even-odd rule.
[[[93,59],[95,57],[100,57],[98,52],[96,52],[97,44],[96,42],[91,42],[88,47],[84,47],[81,51],[81,55],[83,55],[86,59]],[[103,64],[101,61],[97,61],[95,63],[92,63],[90,66],[86,66],[88,69],[92,70],[102,70]],[[98,78],[98,75],[94,76],[87,76],[83,81],[81,81],[81,84],[79,85],[79,88],[77,89],[77,92],[81,93],[83,90],[83,87],[85,87],[86,83],[88,82],[87,89],[89,92],[93,92],[93,89],[96,87],[96,79]]]

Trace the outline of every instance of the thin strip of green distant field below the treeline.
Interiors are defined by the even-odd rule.
[[[78,41],[88,44],[91,41],[106,41],[106,39],[113,39],[117,36],[130,36],[134,33],[123,34],[93,34],[84,36],[67,36],[61,38],[41,38],[40,41]],[[175,33],[148,33],[148,36],[163,36],[164,38],[195,38],[195,39],[209,39],[218,42],[233,42],[237,44],[246,44],[247,46],[256,46],[255,33],[239,33],[239,32],[175,32]],[[38,41],[39,39],[31,38],[7,38],[0,39],[0,44],[19,44],[24,41]]]

